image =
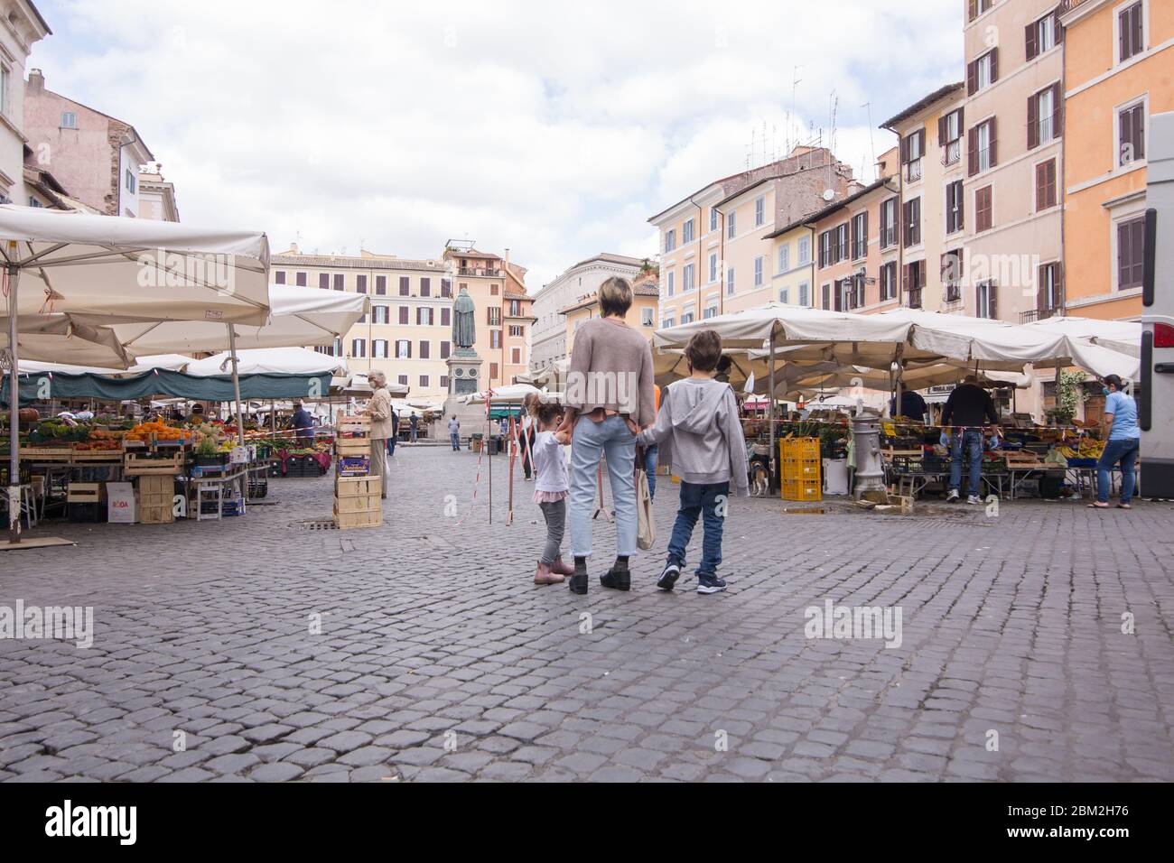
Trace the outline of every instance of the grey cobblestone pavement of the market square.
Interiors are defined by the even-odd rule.
[[[656,591],[660,551],[600,588],[600,524],[578,598],[532,584],[502,459],[492,526],[485,477],[445,515],[475,463],[400,447],[379,530],[299,527],[325,478],[223,522],[38,528],[79,546],[0,555],[0,606],[93,606],[94,645],[0,640],[0,778],[1174,780],[1174,506],[736,500],[727,593]],[[808,639],[825,600],[899,606],[900,646]]]

